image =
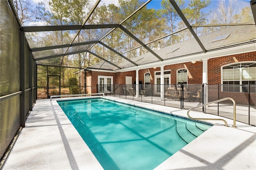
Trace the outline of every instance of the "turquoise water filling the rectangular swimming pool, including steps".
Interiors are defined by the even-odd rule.
[[[105,170],[154,169],[211,127],[101,98],[58,104]]]

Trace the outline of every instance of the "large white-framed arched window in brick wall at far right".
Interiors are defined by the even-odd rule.
[[[243,62],[222,67],[222,91],[248,92],[248,84],[254,85],[251,92],[255,93],[256,63]]]

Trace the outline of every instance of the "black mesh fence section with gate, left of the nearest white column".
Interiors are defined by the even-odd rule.
[[[138,91],[136,91],[137,88],[139,89]],[[164,89],[162,97],[161,88]],[[119,97],[122,99],[131,99],[180,109],[189,109],[198,104],[201,105],[204,103],[204,86],[202,84],[97,85],[97,93],[104,93],[105,95]],[[201,108],[198,110],[202,111]]]

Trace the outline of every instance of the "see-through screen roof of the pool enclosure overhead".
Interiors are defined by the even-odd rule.
[[[8,2],[14,15],[18,15],[13,1]],[[182,2],[184,4],[176,0],[111,1],[113,4],[107,0],[94,4],[81,1],[80,13],[79,6],[71,6],[76,1],[69,4],[63,1],[61,6],[54,6],[52,1],[50,6],[47,6],[49,1],[42,2],[34,9],[41,18],[20,24],[38,65],[115,71],[136,69],[174,58],[190,61],[195,54],[205,55],[256,40],[254,1],[238,0],[237,4],[201,1],[208,5],[199,11],[199,17],[190,14],[196,12],[196,4],[193,6],[190,1]],[[64,7],[68,7],[70,13],[58,18]],[[227,11],[232,7],[237,12],[223,16],[221,7]],[[55,8],[58,10],[54,11]],[[224,22],[227,18],[230,20]]]

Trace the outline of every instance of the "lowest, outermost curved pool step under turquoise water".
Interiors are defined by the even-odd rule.
[[[179,121],[176,122],[176,132],[186,143],[189,143],[196,138],[195,134],[192,134],[193,132],[191,133],[187,130],[186,124]]]

